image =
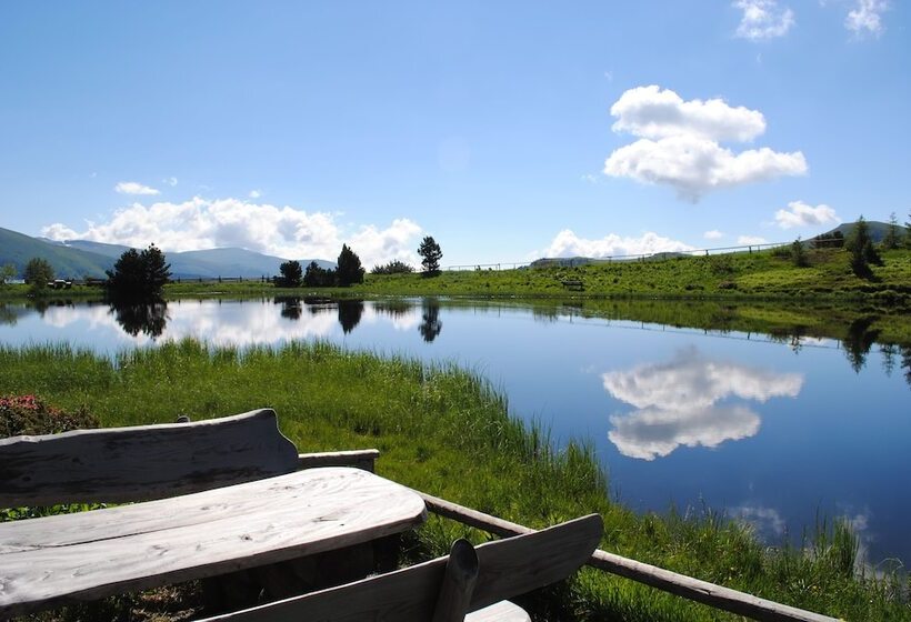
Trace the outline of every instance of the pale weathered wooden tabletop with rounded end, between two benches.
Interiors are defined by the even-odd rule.
[[[402,485],[323,468],[0,523],[0,619],[369,542],[426,518]]]

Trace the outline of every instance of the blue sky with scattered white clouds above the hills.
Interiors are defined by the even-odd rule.
[[[368,268],[911,219],[911,2],[0,4],[0,227]]]

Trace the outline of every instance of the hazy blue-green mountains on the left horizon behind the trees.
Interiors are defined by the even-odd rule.
[[[104,278],[104,271],[129,250],[122,244],[106,244],[89,240],[58,242],[31,238],[9,229],[0,229],[0,265],[13,263],[21,274],[26,263],[34,257],[47,259],[59,277]],[[218,277],[243,277],[257,279],[279,273],[279,267],[288,261],[244,249],[210,249],[204,251],[166,252],[173,279],[214,279]],[[336,268],[324,259],[301,259],[307,269],[311,261],[321,268]]]

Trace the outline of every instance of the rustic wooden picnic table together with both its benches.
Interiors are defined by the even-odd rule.
[[[0,508],[143,501],[0,523],[0,619],[191,579],[223,598],[252,576],[254,594],[267,584],[271,598],[346,584],[220,619],[303,608],[306,619],[341,620],[343,611],[392,608],[383,620],[420,620],[439,602],[456,613],[433,620],[469,611],[472,622],[528,620],[499,601],[565,578],[597,545],[600,518],[590,516],[477,550],[461,541],[449,558],[350,583],[377,569],[373,548],[426,519],[418,493],[368,472],[377,454],[299,455],[269,409],[0,440]],[[336,468],[343,464],[363,470]],[[310,466],[320,468],[298,471]],[[327,560],[344,568],[328,572]],[[453,573],[462,581],[443,581]],[[249,606],[249,591],[229,604]]]

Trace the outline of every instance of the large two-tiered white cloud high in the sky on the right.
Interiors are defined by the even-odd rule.
[[[624,92],[611,114],[618,118],[614,131],[640,140],[611,153],[604,174],[667,184],[693,202],[711,190],[807,172],[800,151],[763,147],[734,153],[722,147],[721,141],[745,142],[762,134],[765,119],[720,99],[683,101],[668,89],[639,87]]]

